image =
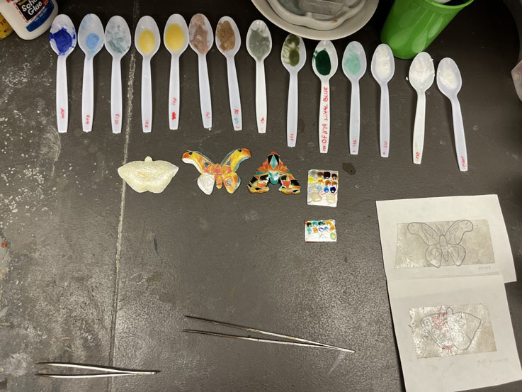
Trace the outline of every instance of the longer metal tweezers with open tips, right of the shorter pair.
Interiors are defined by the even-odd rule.
[[[288,336],[288,335],[281,335],[274,332],[267,332],[263,330],[256,330],[255,328],[250,327],[243,327],[242,325],[236,325],[236,324],[230,324],[230,323],[222,323],[220,321],[215,320],[209,320],[208,318],[200,318],[195,317],[191,315],[186,315],[186,318],[191,318],[193,320],[200,320],[205,321],[206,323],[212,323],[215,325],[222,325],[225,327],[231,327],[235,328],[237,330],[244,330],[248,332],[254,332],[259,333],[261,335],[270,335],[274,337],[281,337],[283,339],[288,340],[273,340],[273,339],[262,339],[259,337],[250,337],[250,336],[241,336],[241,335],[227,335],[223,333],[217,333],[217,332],[208,332],[208,331],[200,331],[200,330],[181,330],[181,332],[190,332],[190,333],[198,333],[201,335],[211,335],[211,336],[217,336],[217,337],[228,337],[230,339],[240,339],[240,340],[250,340],[252,342],[261,342],[261,343],[273,343],[276,345],[290,345],[290,346],[302,346],[302,347],[316,347],[316,348],[322,348],[322,349],[335,349],[343,352],[349,352],[354,353],[355,351],[353,349],[345,349],[343,347],[336,347],[331,345],[325,345],[324,343],[314,342],[313,340],[306,340],[302,339],[300,337],[294,337],[294,336]],[[291,341],[289,341],[291,340]]]

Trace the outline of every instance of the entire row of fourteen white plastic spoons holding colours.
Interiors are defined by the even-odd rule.
[[[113,56],[111,77],[111,124],[113,133],[121,132],[122,123],[122,91],[120,60],[130,49],[130,30],[125,19],[113,16],[103,25],[94,14],[86,15],[79,26],[79,46],[85,53],[84,81],[82,85],[82,126],[89,132],[93,121],[93,57],[105,45]],[[188,45],[198,54],[198,74],[200,91],[200,108],[203,126],[212,126],[212,103],[210,100],[210,83],[206,54],[213,45],[213,32],[208,18],[203,14],[195,14],[189,26],[179,14],[170,16],[164,29],[164,45],[171,53],[171,72],[169,80],[169,127],[178,128],[179,119],[179,56]],[[159,49],[161,39],[157,23],[150,16],[143,16],[135,30],[135,46],[142,55],[142,129],[152,130],[152,80],[150,60]],[[65,59],[76,46],[76,32],[70,18],[59,15],[55,18],[50,30],[50,43],[57,52],[57,123],[59,132],[67,132],[67,72]],[[256,122],[259,133],[266,132],[266,82],[263,61],[271,52],[272,40],[268,27],[263,21],[254,21],[246,35],[246,47],[256,60]],[[229,85],[229,103],[232,124],[235,130],[242,129],[241,100],[234,56],[241,45],[241,38],[236,23],[224,16],[217,23],[216,45],[227,59],[227,79]],[[283,43],[281,62],[290,74],[287,111],[287,145],[295,147],[297,142],[297,73],[305,65],[306,49],[302,38],[290,34]],[[314,50],[312,69],[321,80],[319,107],[319,151],[326,153],[330,135],[330,95],[329,79],[338,67],[336,50],[331,41],[321,41]],[[358,82],[366,71],[366,58],[362,45],[356,41],[348,43],[344,50],[342,68],[350,80],[351,109],[349,140],[351,154],[358,154],[360,136],[360,94]],[[380,99],[380,155],[389,156],[390,150],[390,104],[387,84],[395,73],[395,62],[390,47],[378,45],[371,62],[373,77],[381,88]],[[433,60],[423,52],[415,57],[409,72],[409,79],[418,93],[416,119],[414,123],[414,163],[420,164],[424,145],[424,118],[426,111],[425,91],[434,79]],[[467,154],[463,130],[462,115],[457,94],[461,79],[458,67],[451,59],[443,59],[438,67],[437,77],[439,89],[448,96],[453,108],[455,146],[461,170],[467,169]]]

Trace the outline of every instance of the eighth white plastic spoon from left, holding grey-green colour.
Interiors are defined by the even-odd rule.
[[[272,50],[272,37],[266,23],[257,19],[246,33],[246,50],[256,60],[256,122],[257,132],[266,133],[265,59]]]

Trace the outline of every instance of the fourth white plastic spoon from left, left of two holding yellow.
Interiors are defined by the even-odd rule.
[[[149,133],[152,130],[152,79],[150,60],[159,49],[161,36],[158,25],[150,16],[142,16],[137,22],[134,33],[136,50],[143,57],[142,62],[142,129]]]

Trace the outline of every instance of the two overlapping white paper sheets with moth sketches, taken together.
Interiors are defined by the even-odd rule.
[[[496,195],[378,201],[407,391],[522,379],[504,282],[516,281]]]

